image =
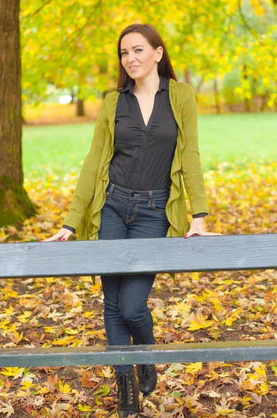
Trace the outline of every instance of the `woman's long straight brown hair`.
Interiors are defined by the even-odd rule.
[[[151,45],[152,48],[157,49],[157,47],[162,47],[164,49],[163,56],[161,57],[161,61],[158,63],[158,73],[167,79],[173,78],[177,82],[177,77],[173,70],[173,66],[171,64],[171,59],[169,58],[166,45],[164,45],[164,41],[161,39],[159,32],[149,23],[139,24],[134,23],[130,24],[125,28],[121,33],[118,39],[118,82],[117,88],[125,87],[132,80],[131,77],[125,71],[121,63],[121,52],[120,52],[120,44],[123,36],[127,35],[130,32],[137,32],[141,33],[148,40],[148,43]]]

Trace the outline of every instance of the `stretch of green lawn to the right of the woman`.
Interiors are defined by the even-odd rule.
[[[277,159],[277,115],[223,114],[199,116],[203,171],[219,162],[244,165]]]

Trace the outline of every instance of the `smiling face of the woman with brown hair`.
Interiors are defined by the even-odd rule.
[[[141,33],[127,33],[121,43],[121,63],[132,79],[141,79],[157,70],[157,63],[161,60],[162,47],[153,49]],[[135,68],[132,68],[135,67]]]

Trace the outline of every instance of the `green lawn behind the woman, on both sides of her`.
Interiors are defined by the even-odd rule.
[[[61,179],[79,173],[93,138],[93,123],[25,127],[24,177]],[[242,164],[277,159],[277,117],[267,114],[200,115],[199,147],[203,171],[219,162]]]

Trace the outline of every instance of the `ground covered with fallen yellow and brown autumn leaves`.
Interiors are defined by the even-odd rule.
[[[74,191],[69,176],[25,180],[39,213],[0,229],[0,242],[38,241],[61,227]],[[277,233],[276,163],[205,173],[207,231]],[[74,236],[72,236],[74,239]],[[277,339],[277,272],[159,274],[148,305],[157,343]],[[104,346],[100,277],[2,280],[1,348]],[[277,417],[277,360],[157,364],[158,383],[140,394],[141,417]],[[112,366],[0,369],[3,417],[117,417]]]

